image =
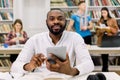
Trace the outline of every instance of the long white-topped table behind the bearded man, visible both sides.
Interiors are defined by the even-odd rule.
[[[18,54],[23,47],[0,48],[0,54]],[[90,54],[120,54],[120,47],[103,48],[96,45],[88,46]]]

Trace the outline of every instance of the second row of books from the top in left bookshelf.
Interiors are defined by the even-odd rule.
[[[1,21],[4,21],[4,20],[12,21],[13,13],[12,12],[0,12],[0,20]]]

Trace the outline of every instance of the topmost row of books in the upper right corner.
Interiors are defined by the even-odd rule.
[[[119,6],[120,0],[88,0],[89,6]]]

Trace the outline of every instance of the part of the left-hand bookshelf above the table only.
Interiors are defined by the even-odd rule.
[[[12,30],[13,23],[13,0],[0,0],[0,44]]]

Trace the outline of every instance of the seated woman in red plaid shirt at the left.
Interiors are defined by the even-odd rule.
[[[25,44],[27,40],[28,36],[27,33],[23,31],[22,21],[20,19],[16,19],[15,22],[13,23],[13,30],[7,34],[5,43],[11,46],[16,44]],[[10,61],[14,62],[16,57],[17,57],[16,54],[11,54]]]

